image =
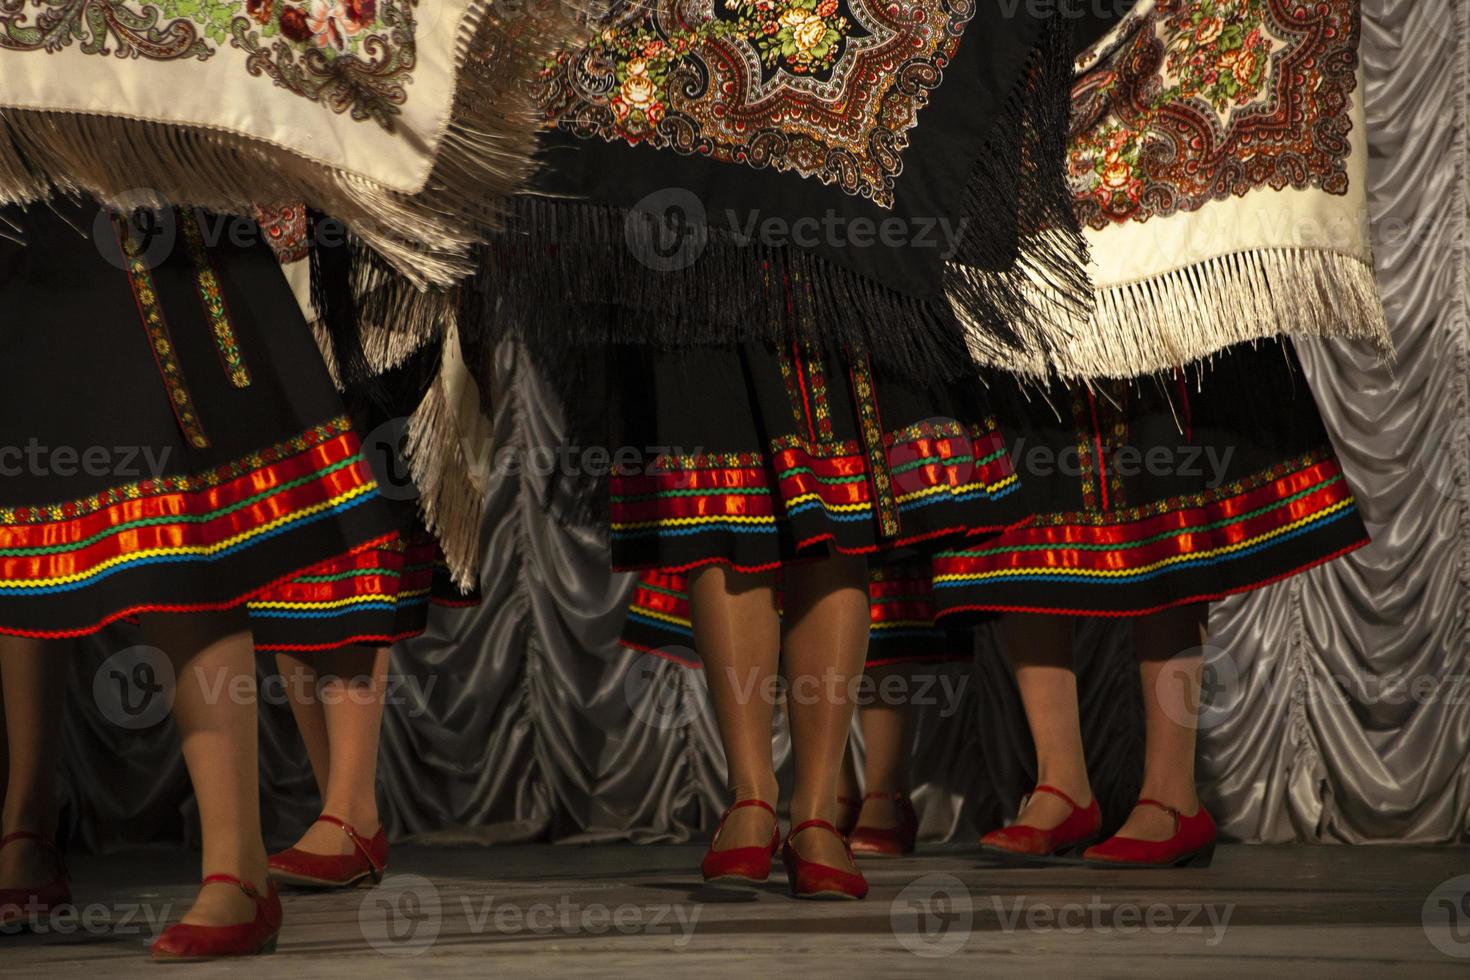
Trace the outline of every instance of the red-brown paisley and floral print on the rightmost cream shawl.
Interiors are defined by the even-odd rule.
[[[1355,0],[1158,0],[1139,16],[1123,44],[1083,56],[1098,63],[1073,93],[1069,175],[1083,225],[1258,188],[1348,192]]]

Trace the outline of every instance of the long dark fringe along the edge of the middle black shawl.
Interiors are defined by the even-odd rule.
[[[688,267],[657,267],[641,257],[667,254],[669,229],[651,216],[522,195],[482,251],[460,329],[472,345],[525,342],[537,366],[570,391],[578,375],[570,348],[579,344],[795,338],[814,351],[872,351],[908,378],[972,373],[967,332],[982,332],[989,350],[1019,354],[1047,336],[1035,329],[1038,319],[1085,322],[1091,309],[1086,245],[1066,187],[1070,82],[1070,31],[1055,16],[956,201],[966,237],[944,273],[948,301],[900,292],[803,248],[706,226]]]

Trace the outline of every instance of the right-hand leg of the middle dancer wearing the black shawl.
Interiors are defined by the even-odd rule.
[[[835,823],[853,695],[867,655],[867,561],[847,555],[786,566],[785,673],[795,788],[791,823]],[[842,840],[808,830],[795,840],[808,861],[854,870]]]

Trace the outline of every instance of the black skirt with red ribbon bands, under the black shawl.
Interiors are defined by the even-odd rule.
[[[795,345],[613,350],[617,569],[903,555],[1029,514],[979,385],[925,388]]]

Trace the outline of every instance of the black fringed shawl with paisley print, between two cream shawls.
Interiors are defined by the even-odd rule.
[[[956,376],[966,334],[1085,323],[1054,4],[628,0],[598,26],[545,68],[541,194],[488,256],[482,306],[532,350],[801,339]]]

